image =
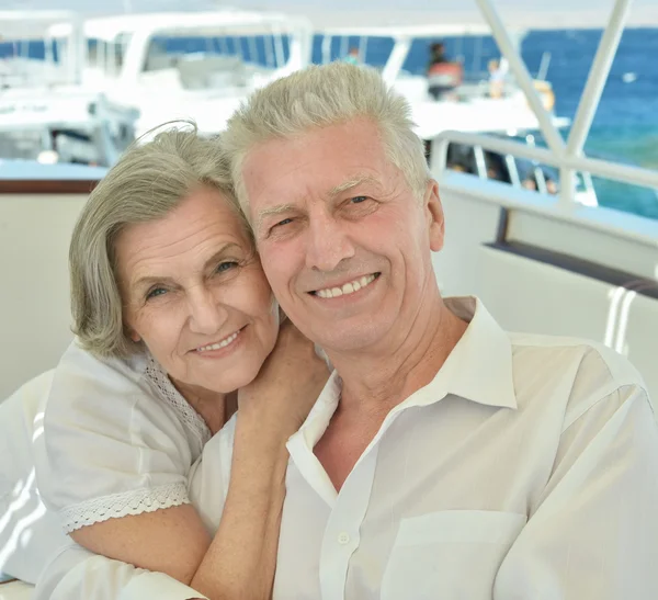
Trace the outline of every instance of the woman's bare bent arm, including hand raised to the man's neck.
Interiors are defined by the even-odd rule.
[[[285,496],[285,443],[327,377],[314,346],[285,324],[258,378],[240,390],[231,477],[214,539],[190,505],[110,519],[71,536],[98,554],[170,575],[212,600],[270,598]]]

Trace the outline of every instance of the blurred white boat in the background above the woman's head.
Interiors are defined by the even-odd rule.
[[[69,31],[55,26],[50,35]],[[220,132],[251,91],[306,66],[311,42],[304,19],[236,10],[91,19],[83,35],[82,86],[138,109],[137,135],[177,118]],[[200,49],[168,52],[177,39],[197,41]]]

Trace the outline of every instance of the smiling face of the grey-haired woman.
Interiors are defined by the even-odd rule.
[[[115,245],[124,325],[177,382],[229,393],[274,348],[277,306],[235,208],[198,188]]]

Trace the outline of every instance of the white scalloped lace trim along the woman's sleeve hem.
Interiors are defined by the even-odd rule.
[[[128,514],[141,514],[162,508],[190,503],[184,483],[167,484],[152,488],[132,489],[120,494],[86,500],[59,511],[66,533],[86,525],[117,519]]]

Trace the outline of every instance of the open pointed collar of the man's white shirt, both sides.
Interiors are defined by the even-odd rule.
[[[515,409],[509,336],[479,298],[450,297],[444,298],[444,303],[454,315],[468,321],[468,327],[434,378],[409,396],[396,410],[429,406],[447,394],[481,405]],[[315,445],[329,426],[341,389],[342,381],[334,371],[299,430],[309,448]]]

